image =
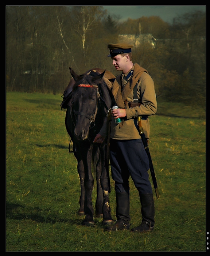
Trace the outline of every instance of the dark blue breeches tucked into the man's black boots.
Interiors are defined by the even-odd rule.
[[[116,192],[129,193],[129,176],[140,194],[152,193],[149,161],[141,139],[110,139],[110,165]]]

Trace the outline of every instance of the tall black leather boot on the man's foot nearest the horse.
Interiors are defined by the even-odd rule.
[[[129,229],[130,224],[130,199],[128,193],[116,192],[116,217],[117,221],[113,226],[107,227],[107,231]]]

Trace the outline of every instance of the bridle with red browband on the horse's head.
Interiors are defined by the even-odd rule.
[[[97,85],[90,85],[90,84],[79,84],[77,87],[85,87],[85,88],[93,87],[93,88],[97,89],[97,94],[96,94],[97,95],[96,110],[95,110],[95,112],[92,115],[88,115],[88,114],[86,114],[84,112],[75,111],[73,109],[73,104],[72,104],[72,109],[71,109],[71,112],[74,113],[74,115],[81,115],[81,116],[85,116],[86,118],[88,118],[90,120],[89,127],[93,128],[95,126],[95,119],[96,119],[96,115],[97,115],[97,112],[98,112],[98,101],[100,101],[100,93],[98,91],[98,86]],[[74,118],[73,118],[73,120],[74,120]]]

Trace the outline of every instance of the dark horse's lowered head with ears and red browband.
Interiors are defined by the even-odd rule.
[[[104,81],[102,81],[105,71],[102,74],[88,71],[83,75],[77,75],[70,68],[70,72],[75,80],[71,99],[72,118],[75,125],[74,134],[77,139],[85,140],[89,136],[89,128],[94,127],[96,118],[101,120],[104,118],[104,116],[98,117],[98,114],[101,87],[105,87]],[[100,128],[97,127],[97,130],[99,131]]]

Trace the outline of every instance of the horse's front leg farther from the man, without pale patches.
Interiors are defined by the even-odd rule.
[[[88,153],[83,155],[83,164],[85,169],[85,219],[82,222],[82,225],[90,226],[94,224],[93,220],[93,204],[92,204],[92,191],[93,191],[93,175],[92,175],[92,148],[89,148]]]

